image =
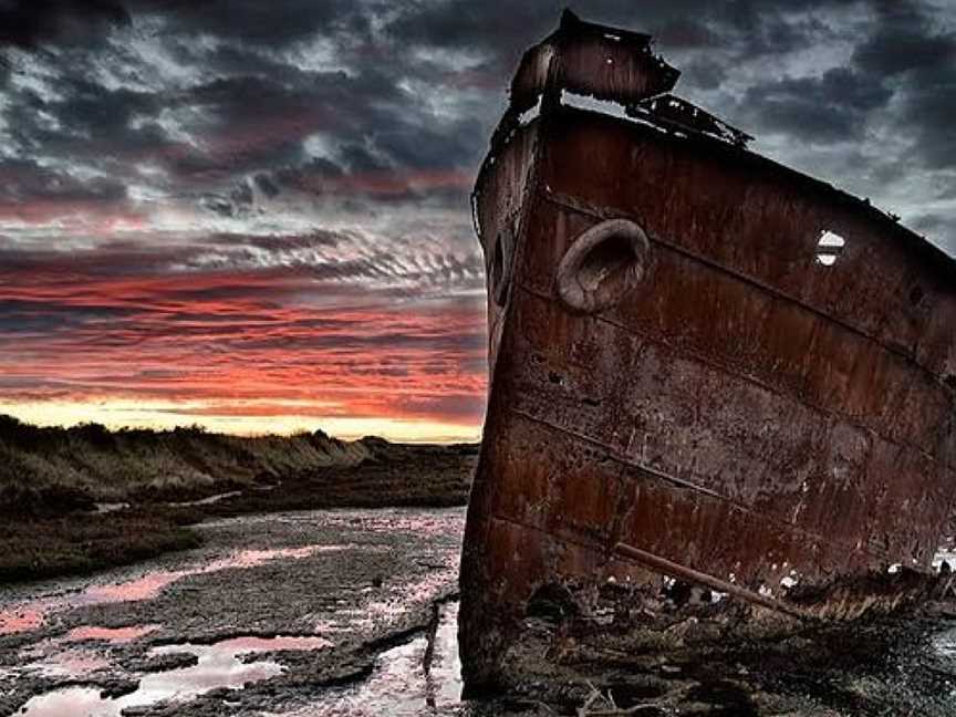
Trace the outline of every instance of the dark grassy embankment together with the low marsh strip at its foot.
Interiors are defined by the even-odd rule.
[[[48,428],[0,416],[0,583],[86,573],[199,544],[207,517],[455,506],[477,446],[242,437],[201,428]],[[176,506],[227,491],[221,501]],[[128,503],[94,512],[97,503]]]

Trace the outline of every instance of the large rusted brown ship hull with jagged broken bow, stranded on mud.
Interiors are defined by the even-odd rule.
[[[612,627],[675,581],[709,591],[704,614],[724,594],[798,622],[892,606],[952,515],[953,260],[747,150],[675,81],[646,35],[565,15],[479,174],[472,687],[502,682],[542,594]]]

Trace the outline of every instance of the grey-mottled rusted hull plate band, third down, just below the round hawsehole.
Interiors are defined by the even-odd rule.
[[[564,323],[553,302],[533,297],[521,302],[526,309],[510,318],[516,343],[509,350],[522,368],[501,388],[510,392],[511,411],[550,426],[558,438],[581,436],[605,457],[825,536],[839,550],[876,538],[866,523],[886,506],[882,491],[871,489],[874,475],[893,476],[903,491],[894,497],[897,515],[884,521],[901,517],[905,524],[901,511],[912,513],[918,506],[914,528],[931,536],[942,530],[952,484],[923,451],[604,321]],[[544,335],[539,326],[551,331]],[[562,345],[570,347],[563,356],[552,349]],[[501,491],[510,490],[506,482],[500,481]],[[910,530],[893,532],[891,545],[908,558]],[[933,548],[924,540],[921,555]],[[886,555],[881,549],[873,560]]]

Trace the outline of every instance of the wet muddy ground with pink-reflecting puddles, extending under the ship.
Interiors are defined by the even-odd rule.
[[[938,611],[852,635],[562,665],[519,695],[463,703],[464,518],[210,520],[194,550],[0,589],[0,715],[599,715],[611,699],[644,717],[956,714],[956,621]]]

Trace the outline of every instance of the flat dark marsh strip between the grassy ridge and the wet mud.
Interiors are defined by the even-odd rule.
[[[370,455],[283,477],[150,490],[103,507],[89,496],[45,510],[0,508],[0,585],[87,575],[197,548],[208,519],[326,508],[441,508],[468,500],[478,446],[364,439]]]

